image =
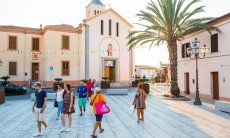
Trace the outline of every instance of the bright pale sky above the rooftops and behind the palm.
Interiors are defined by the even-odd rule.
[[[91,0],[0,0],[0,25],[18,25],[38,28],[40,24],[71,24],[78,26],[85,18],[85,6]],[[149,0],[101,0],[109,5],[130,23],[136,23],[135,16],[144,9]],[[218,17],[230,12],[230,0],[202,0],[205,5],[203,16]],[[138,65],[158,66],[168,62],[165,46],[139,48],[135,62]]]

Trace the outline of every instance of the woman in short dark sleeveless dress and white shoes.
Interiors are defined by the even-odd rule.
[[[71,125],[72,125],[72,113],[75,112],[74,110],[74,93],[72,92],[70,85],[66,84],[64,86],[65,91],[62,95],[63,98],[63,106],[62,106],[62,115],[61,115],[61,119],[62,119],[62,129],[60,130],[60,132],[69,132],[71,131]],[[68,115],[68,119],[69,119],[69,126],[66,127],[65,125],[65,115]]]

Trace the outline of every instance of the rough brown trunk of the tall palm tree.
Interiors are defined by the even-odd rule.
[[[177,74],[177,43],[176,41],[168,42],[169,61],[171,71],[171,93],[176,97],[180,95],[178,87],[178,74]]]

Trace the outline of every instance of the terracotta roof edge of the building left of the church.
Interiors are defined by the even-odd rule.
[[[0,26],[0,32],[2,31],[2,32],[16,32],[16,33],[42,35],[48,30],[70,32],[70,33],[81,33],[82,32],[81,29],[74,28],[72,25],[68,25],[68,24],[47,25],[43,29],[42,28],[12,26],[12,25],[1,25]]]

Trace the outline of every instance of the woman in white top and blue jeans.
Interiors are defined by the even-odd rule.
[[[63,104],[63,98],[62,98],[62,95],[64,93],[64,89],[62,88],[61,84],[57,84],[57,98],[56,98],[56,101],[58,103],[58,110],[57,110],[57,120],[59,119],[59,116],[62,112],[62,104]]]

